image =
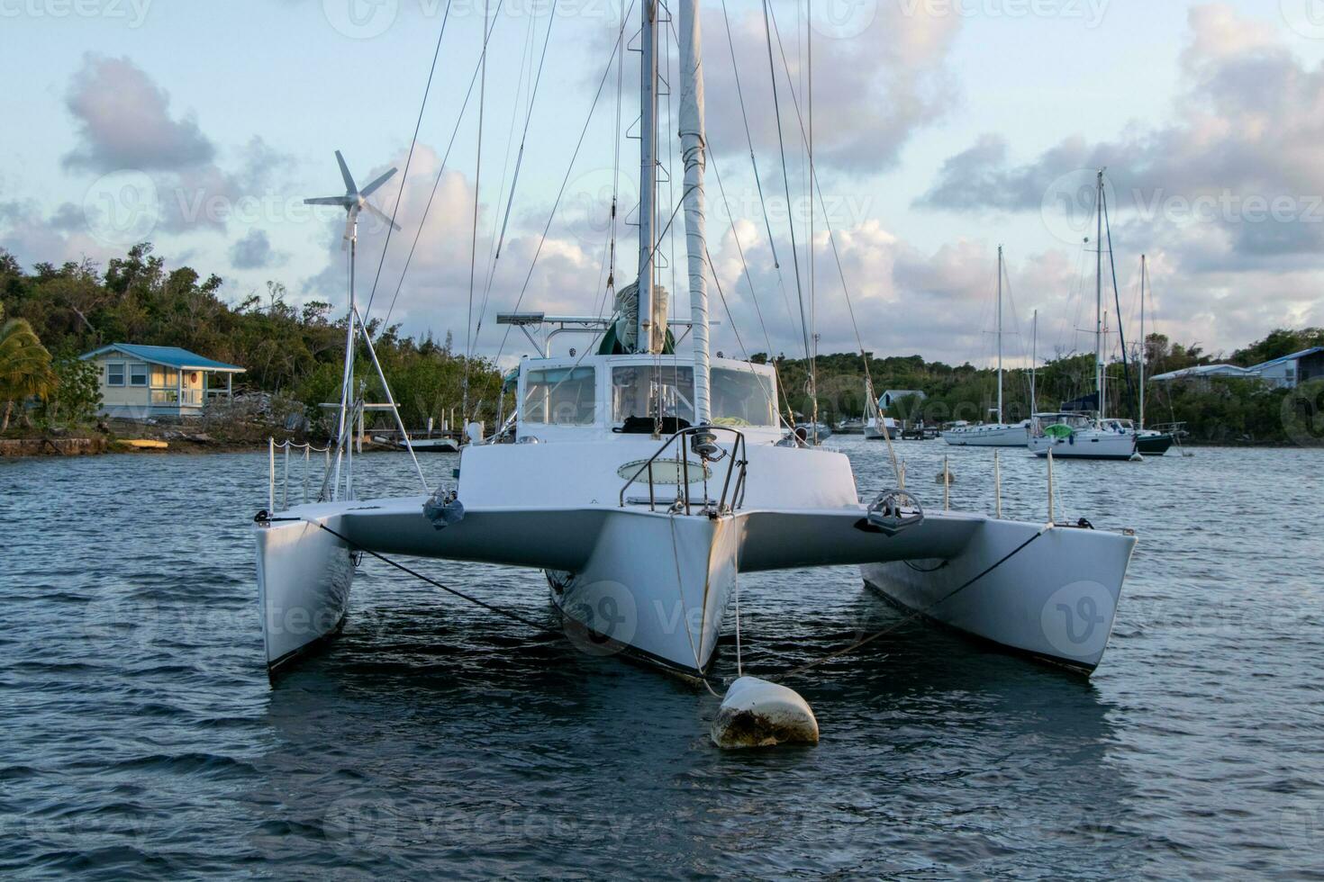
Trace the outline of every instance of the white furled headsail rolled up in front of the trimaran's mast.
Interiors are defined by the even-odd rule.
[[[703,171],[707,147],[703,130],[703,40],[699,0],[681,0],[681,156],[685,161],[685,243],[690,270],[690,320],[694,335],[694,417],[699,426],[711,421],[708,399],[708,287],[704,267]]]

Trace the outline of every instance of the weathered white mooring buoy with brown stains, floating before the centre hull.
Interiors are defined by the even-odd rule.
[[[757,677],[740,677],[727,689],[712,743],[722,748],[817,744],[818,721],[793,689]]]

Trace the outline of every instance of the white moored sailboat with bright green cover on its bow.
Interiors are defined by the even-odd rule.
[[[1139,460],[1136,452],[1137,435],[1128,426],[1129,421],[1110,419],[1107,364],[1104,361],[1104,311],[1103,311],[1103,169],[1099,171],[1096,192],[1098,238],[1095,253],[1095,390],[1099,410],[1095,414],[1083,413],[1043,413],[1035,414],[1030,427],[1030,451],[1035,456],[1053,452],[1058,459],[1113,459]]]

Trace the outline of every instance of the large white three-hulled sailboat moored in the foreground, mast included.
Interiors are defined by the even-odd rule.
[[[461,451],[451,485],[357,500],[338,479],[322,501],[262,512],[254,536],[269,670],[335,635],[363,554],[542,569],[573,633],[688,676],[708,672],[740,573],[847,563],[928,618],[1092,670],[1133,536],[924,512],[903,491],[861,487],[845,455],[779,426],[771,365],[710,358],[698,0],[673,11],[692,353],[665,352],[666,307],[654,296],[662,24],[649,1],[639,276],[622,292],[625,308],[604,320],[624,352],[523,358],[515,414]]]

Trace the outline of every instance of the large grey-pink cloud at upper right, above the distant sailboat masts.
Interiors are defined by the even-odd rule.
[[[916,205],[1092,210],[1079,184],[1088,184],[1087,169],[1108,167],[1113,212],[1160,235],[1201,223],[1251,259],[1324,249],[1324,66],[1304,65],[1272,30],[1223,4],[1193,8],[1188,22],[1185,91],[1170,122],[1136,124],[1111,141],[1066,138],[1019,165],[1005,139],[984,135],[943,164]]]

